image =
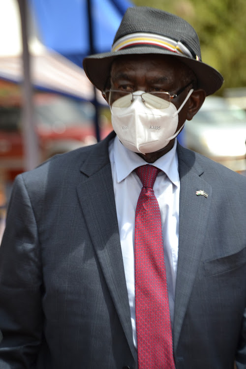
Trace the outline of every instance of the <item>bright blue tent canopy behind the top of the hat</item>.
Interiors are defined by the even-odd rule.
[[[91,54],[87,0],[29,0],[43,44],[81,66]],[[128,0],[90,0],[93,49],[111,49]]]

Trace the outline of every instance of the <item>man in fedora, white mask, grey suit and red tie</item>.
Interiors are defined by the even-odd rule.
[[[176,141],[222,76],[148,7],[84,68],[117,136],[17,178],[0,368],[246,368],[246,179]]]

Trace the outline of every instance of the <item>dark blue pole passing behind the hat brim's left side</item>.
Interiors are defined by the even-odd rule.
[[[93,30],[93,20],[92,20],[92,4],[91,0],[87,0],[87,10],[88,10],[88,29],[89,29],[89,41],[90,41],[90,54],[95,54],[94,48],[94,30]],[[94,115],[94,123],[95,123],[95,134],[97,142],[100,141],[100,128],[99,128],[99,104],[96,97],[96,89],[93,87],[94,97],[92,100],[92,104],[95,108],[95,115]]]

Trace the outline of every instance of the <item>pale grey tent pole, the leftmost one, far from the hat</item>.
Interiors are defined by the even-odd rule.
[[[23,46],[23,117],[22,133],[24,142],[24,168],[31,170],[39,163],[38,139],[34,126],[33,98],[31,85],[31,63],[28,47],[28,17],[27,0],[18,0],[21,17],[22,46]]]

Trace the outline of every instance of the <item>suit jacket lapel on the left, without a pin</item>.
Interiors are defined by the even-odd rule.
[[[111,135],[109,139],[112,137]],[[102,273],[132,355],[135,357],[112,172],[108,155],[109,139],[96,145],[83,164],[81,172],[86,176],[83,176],[83,182],[77,186],[77,192]]]

